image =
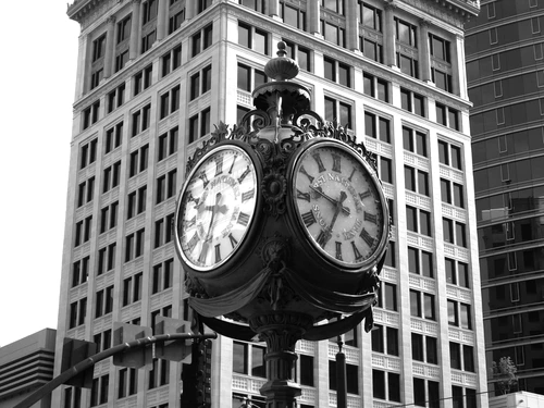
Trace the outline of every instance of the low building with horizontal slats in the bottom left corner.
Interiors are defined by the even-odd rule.
[[[0,347],[0,408],[11,408],[53,379],[57,333],[44,329]],[[50,408],[51,395],[33,405]]]

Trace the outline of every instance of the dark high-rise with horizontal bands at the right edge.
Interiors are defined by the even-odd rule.
[[[544,394],[544,3],[483,1],[466,29],[486,364]]]

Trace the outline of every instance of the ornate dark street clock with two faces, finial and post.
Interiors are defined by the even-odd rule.
[[[372,327],[391,224],[372,154],[310,110],[277,48],[256,109],[188,160],[174,234],[190,307],[222,335],[267,342],[267,408],[293,408],[296,342]]]

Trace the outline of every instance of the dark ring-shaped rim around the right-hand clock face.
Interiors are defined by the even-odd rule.
[[[300,211],[297,205],[297,198],[296,198],[296,176],[297,176],[297,168],[299,162],[301,161],[301,158],[305,157],[306,154],[310,153],[311,150],[318,149],[318,148],[335,148],[335,149],[342,149],[344,152],[350,154],[354,160],[358,161],[361,165],[362,169],[367,172],[369,180],[371,183],[373,183],[378,195],[379,195],[379,200],[380,200],[380,207],[383,213],[383,223],[381,227],[381,237],[380,237],[380,243],[374,249],[373,254],[371,254],[368,258],[362,260],[361,262],[358,263],[351,263],[351,262],[345,262],[345,261],[339,261],[338,259],[334,258],[331,254],[326,252],[324,249],[322,249],[319,244],[316,242],[316,238],[309,233],[308,228],[302,222]],[[373,265],[375,265],[380,259],[383,257],[385,254],[385,250],[387,249],[387,242],[388,242],[388,233],[390,233],[390,211],[387,208],[387,200],[385,198],[385,194],[383,191],[382,183],[380,182],[380,178],[378,177],[376,172],[372,166],[364,160],[359,152],[357,152],[355,149],[353,149],[350,146],[336,140],[336,139],[324,139],[324,138],[314,138],[306,143],[306,146],[304,146],[293,158],[292,162],[289,163],[288,166],[288,191],[289,191],[289,200],[288,200],[288,209],[289,209],[289,219],[290,223],[294,224],[295,231],[300,232],[304,235],[302,239],[302,247],[309,248],[312,254],[317,254],[322,260],[333,264],[336,268],[341,268],[342,270],[345,270],[347,272],[359,272],[359,271],[367,271]]]

